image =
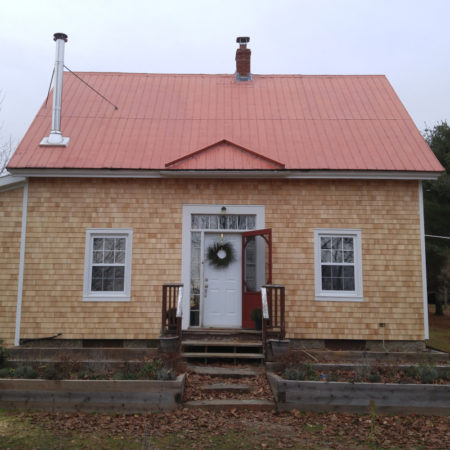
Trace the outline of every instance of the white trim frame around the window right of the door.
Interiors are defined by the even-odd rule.
[[[353,237],[355,242],[355,290],[354,291],[322,291],[320,237],[335,235],[339,237]],[[362,252],[361,230],[352,228],[316,228],[314,230],[314,279],[315,299],[324,301],[361,302],[363,298],[362,286]]]

